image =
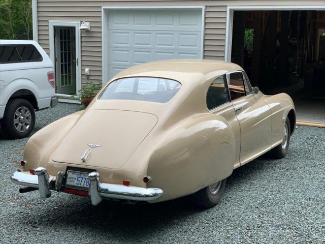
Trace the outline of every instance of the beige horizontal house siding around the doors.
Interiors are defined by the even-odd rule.
[[[273,0],[273,5],[321,5],[322,1]],[[204,58],[224,60],[227,6],[270,5],[270,1],[90,1],[38,0],[38,37],[49,53],[49,20],[90,22],[90,32],[81,33],[82,83],[102,80],[102,6],[205,6]],[[91,75],[86,79],[85,68]]]

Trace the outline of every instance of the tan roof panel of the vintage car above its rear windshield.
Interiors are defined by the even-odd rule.
[[[160,77],[183,82],[201,80],[210,73],[224,74],[243,70],[240,66],[209,59],[170,59],[133,66],[118,73],[112,80],[122,77]]]

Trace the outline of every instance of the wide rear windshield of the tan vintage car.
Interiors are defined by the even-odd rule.
[[[175,80],[155,77],[128,77],[111,82],[99,99],[138,100],[167,103],[181,87]]]

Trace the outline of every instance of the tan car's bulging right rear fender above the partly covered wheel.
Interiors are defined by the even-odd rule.
[[[185,196],[231,175],[234,163],[235,136],[228,121],[202,114],[158,144],[148,163],[148,187],[163,189],[161,200]]]

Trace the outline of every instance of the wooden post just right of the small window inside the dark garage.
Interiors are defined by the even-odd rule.
[[[254,41],[253,41],[253,53],[252,53],[252,86],[259,85],[259,73],[261,70],[261,37],[262,37],[262,21],[263,12],[254,12]]]

